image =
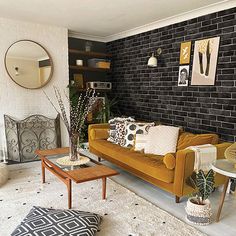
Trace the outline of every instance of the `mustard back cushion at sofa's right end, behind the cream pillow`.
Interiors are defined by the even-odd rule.
[[[177,150],[196,145],[218,144],[218,142],[219,136],[217,134],[192,134],[185,132],[179,136]]]

